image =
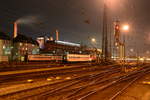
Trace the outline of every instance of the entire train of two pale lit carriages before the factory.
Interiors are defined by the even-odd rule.
[[[28,55],[28,61],[54,61],[54,62],[92,62],[96,56],[89,54],[66,54],[66,55]]]

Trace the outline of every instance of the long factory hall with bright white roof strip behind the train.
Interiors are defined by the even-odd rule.
[[[79,43],[72,43],[60,40],[53,40],[48,37],[38,37],[41,54],[65,55],[65,54],[100,54],[101,52],[94,48],[88,48]]]

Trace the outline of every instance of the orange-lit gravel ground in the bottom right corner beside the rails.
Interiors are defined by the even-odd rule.
[[[115,100],[150,100],[150,74],[136,81]]]

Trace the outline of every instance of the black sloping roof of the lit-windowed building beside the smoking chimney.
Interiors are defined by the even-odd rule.
[[[31,43],[38,45],[38,42],[36,40],[33,40],[31,37],[27,37],[22,34],[18,34],[17,37],[13,39],[13,42]]]

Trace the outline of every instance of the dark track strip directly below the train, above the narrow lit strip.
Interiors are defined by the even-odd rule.
[[[79,65],[90,65],[94,63],[74,63],[74,64],[63,64],[63,63],[49,63],[49,62],[26,62],[20,64],[0,64],[0,72],[4,71],[20,71],[20,70],[28,70],[28,69],[38,69],[38,68],[55,68],[61,66],[79,66]],[[5,66],[5,67],[4,67]]]

